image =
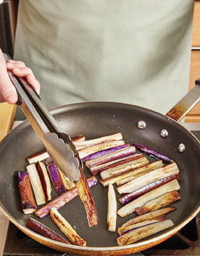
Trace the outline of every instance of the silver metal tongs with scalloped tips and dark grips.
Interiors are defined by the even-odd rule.
[[[3,55],[6,62],[11,60],[10,56],[5,53]],[[48,154],[70,180],[78,181],[80,179],[79,168],[83,169],[83,163],[71,138],[62,131],[57,121],[41,102],[36,90],[27,83],[26,79],[15,76],[9,70],[8,76],[17,90],[17,105],[20,105]]]

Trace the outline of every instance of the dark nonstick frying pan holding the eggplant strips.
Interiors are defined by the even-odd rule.
[[[183,112],[183,109],[183,106],[182,109],[179,108],[180,112]],[[180,112],[175,112],[174,108],[171,111],[177,120],[180,119],[180,116],[183,116],[183,113]],[[0,144],[0,208],[8,217],[8,220],[13,222],[25,234],[50,248],[71,254],[127,255],[161,243],[176,234],[199,213],[200,144],[197,138],[183,126],[180,126],[177,121],[150,109],[115,102],[85,102],[66,105],[52,109],[51,114],[55,116],[59,125],[71,137],[83,134],[89,140],[121,132],[125,142],[131,144],[139,142],[171,157],[180,169],[181,200],[173,203],[177,210],[167,215],[167,218],[175,224],[174,227],[149,238],[144,238],[138,243],[119,247],[116,243],[117,232],[107,231],[108,188],[98,184],[92,188],[99,215],[98,226],[88,227],[85,208],[80,198],[74,199],[59,209],[59,213],[75,226],[77,233],[87,241],[86,248],[59,243],[36,234],[26,227],[29,217],[35,218],[62,235],[49,216],[39,219],[34,214],[24,215],[22,213],[15,173],[18,170],[25,170],[27,156],[44,149],[29,122],[24,121],[12,130]],[[144,129],[138,128],[138,121],[141,120],[146,123]],[[160,135],[162,129],[166,129],[169,133],[165,138]],[[182,153],[178,151],[180,143],[185,144],[185,151]],[[150,159],[150,161],[152,160]],[[90,176],[87,168],[85,168],[85,174],[87,177]],[[57,197],[55,191],[53,191],[52,197]],[[117,195],[117,197],[120,196]],[[121,205],[118,202],[117,208],[120,207]],[[117,217],[117,227],[135,216],[135,213],[132,213],[124,218]]]

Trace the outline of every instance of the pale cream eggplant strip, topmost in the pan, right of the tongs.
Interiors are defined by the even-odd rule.
[[[115,133],[113,135],[108,135],[104,137],[98,137],[97,139],[93,140],[85,140],[83,142],[73,142],[77,150],[84,149],[85,147],[90,147],[95,144],[101,144],[104,142],[110,142],[113,140],[122,140],[122,133]]]

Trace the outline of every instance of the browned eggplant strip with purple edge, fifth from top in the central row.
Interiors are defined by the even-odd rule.
[[[115,166],[120,166],[123,163],[129,163],[136,159],[141,159],[142,157],[143,157],[143,154],[134,154],[132,156],[124,157],[123,159],[117,159],[110,163],[103,163],[103,165],[101,165],[101,166],[96,166],[94,168],[91,168],[90,171],[93,175],[97,175],[97,174],[101,173],[103,170],[108,170],[109,168],[113,168]]]

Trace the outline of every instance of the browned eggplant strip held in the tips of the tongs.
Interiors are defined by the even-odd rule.
[[[78,189],[78,194],[80,200],[85,206],[85,211],[87,214],[87,222],[89,227],[96,226],[99,223],[97,210],[94,204],[94,199],[92,197],[90,187],[87,184],[86,177],[83,173],[83,170],[80,168],[80,179],[76,182],[76,188]]]

